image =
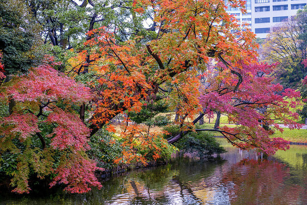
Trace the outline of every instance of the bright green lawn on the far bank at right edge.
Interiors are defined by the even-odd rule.
[[[281,137],[292,142],[307,142],[307,130],[290,130],[289,128],[283,128],[283,132],[276,131],[272,137]]]

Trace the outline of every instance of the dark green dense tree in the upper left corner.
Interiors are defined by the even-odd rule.
[[[39,26],[24,1],[0,2],[0,50],[5,74],[25,73],[42,57]]]

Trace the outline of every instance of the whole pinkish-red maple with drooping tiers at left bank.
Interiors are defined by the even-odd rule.
[[[76,115],[73,106],[79,107],[86,103],[92,99],[92,95],[89,88],[59,74],[53,68],[55,64],[52,58],[46,58],[44,64],[32,68],[28,74],[13,77],[1,87],[3,95],[0,99],[5,102],[13,100],[16,106],[13,108],[14,112],[1,119],[0,135],[4,135],[1,141],[5,143],[0,145],[0,149],[19,153],[17,165],[26,166],[26,170],[29,170],[30,166],[49,169],[44,173],[36,170],[40,177],[50,173],[57,174],[51,186],[64,183],[67,185],[65,190],[83,193],[89,191],[92,186],[101,187],[101,184],[94,175],[99,168],[85,153],[89,149],[87,137],[90,130]],[[47,134],[44,134],[46,130],[40,130],[45,126],[51,126],[51,131]],[[21,143],[28,138],[38,137],[43,145],[42,149],[12,147],[11,139],[16,137]],[[46,143],[49,141],[48,137],[51,138],[50,144]],[[29,143],[31,140],[27,141],[27,146]],[[29,153],[29,159],[24,159],[25,151]],[[55,163],[54,166],[47,168],[45,157],[35,157],[42,156],[45,152],[50,153],[49,157],[52,163]],[[58,156],[55,155],[60,156],[58,162]],[[29,192],[29,174],[30,172],[23,172],[22,178],[12,178],[12,185],[16,186],[14,192]]]

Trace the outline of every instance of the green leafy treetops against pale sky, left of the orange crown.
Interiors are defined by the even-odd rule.
[[[92,29],[106,26],[114,29],[118,37],[126,40],[127,36],[138,32],[146,34],[143,20],[148,15],[137,16],[133,10],[133,1],[25,1],[33,18],[42,26],[41,36],[46,44],[62,49],[76,48],[82,45],[85,33]],[[154,27],[151,30],[154,30]],[[150,29],[149,29],[150,30]]]

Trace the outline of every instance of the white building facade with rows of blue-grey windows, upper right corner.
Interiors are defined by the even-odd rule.
[[[265,38],[272,27],[296,15],[306,4],[307,0],[252,0],[252,31]]]

